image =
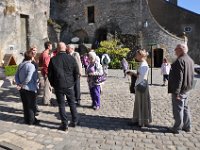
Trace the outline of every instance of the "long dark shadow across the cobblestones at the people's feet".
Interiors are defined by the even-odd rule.
[[[5,113],[6,112],[6,113]],[[60,125],[60,115],[58,113],[53,113],[49,111],[42,111],[42,113],[55,115],[58,120],[47,121],[42,120],[40,122],[40,127],[47,127],[49,129],[57,129]],[[15,115],[16,114],[16,115]],[[18,124],[23,124],[23,117],[17,116],[17,114],[22,114],[22,110],[9,108],[6,106],[0,106],[0,120],[5,122],[14,122]],[[71,114],[67,113],[68,119],[71,120]],[[129,118],[119,118],[119,117],[107,117],[107,116],[92,116],[86,115],[84,113],[79,114],[79,125],[80,127],[93,128],[98,130],[134,130],[141,132],[159,132],[159,133],[167,133],[168,130],[166,126],[156,126],[151,125],[148,127],[137,127],[128,125],[131,119]]]

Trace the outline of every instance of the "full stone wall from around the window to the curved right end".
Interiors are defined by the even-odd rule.
[[[88,23],[88,6],[95,7],[94,23]],[[95,38],[98,39],[98,34],[102,32],[113,35],[117,32],[124,35],[121,37],[133,35],[137,39],[131,42],[141,45],[148,51],[150,51],[149,45],[154,43],[153,48],[165,49],[167,51],[165,55],[173,59],[173,49],[178,43],[183,42],[183,39],[176,37],[159,25],[149,10],[147,0],[68,0],[62,4],[51,0],[51,12],[53,20],[67,24],[67,27],[61,32],[61,40],[66,43],[70,42],[69,39],[75,36],[73,33],[77,30],[84,30],[89,36],[90,42]],[[145,22],[148,27],[144,27]],[[131,45],[130,41],[127,45]]]

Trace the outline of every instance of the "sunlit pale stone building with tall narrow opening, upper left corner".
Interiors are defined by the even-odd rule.
[[[0,62],[5,54],[13,54],[21,62],[21,54],[31,45],[44,49],[49,8],[49,0],[0,1]]]

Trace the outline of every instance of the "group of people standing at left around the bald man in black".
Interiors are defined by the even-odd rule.
[[[57,49],[53,53],[51,42],[45,42],[44,47],[45,50],[41,53],[39,62],[35,60],[37,53],[36,46],[26,51],[24,60],[20,63],[15,74],[17,89],[20,92],[23,104],[24,121],[30,125],[39,124],[40,121],[36,118],[39,111],[36,97],[38,89],[42,85],[44,86],[44,105],[51,105],[52,89],[55,90],[62,122],[59,129],[65,131],[68,128],[65,96],[72,115],[72,121],[69,126],[75,127],[78,124],[76,106],[79,106],[81,101],[80,77],[82,76],[82,62],[73,44],[66,45],[63,42],[59,42]],[[100,84],[105,81],[101,77],[107,75],[107,65],[109,62],[101,65],[100,58],[92,50],[87,54],[87,57],[88,64],[85,71],[92,98],[92,107],[94,110],[98,110],[100,109]],[[38,75],[39,67],[41,67],[43,78],[41,81]]]

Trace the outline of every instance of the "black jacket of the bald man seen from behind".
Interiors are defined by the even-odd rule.
[[[72,87],[79,76],[76,60],[66,52],[59,52],[52,57],[48,66],[48,79],[55,90]]]

